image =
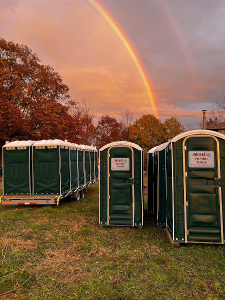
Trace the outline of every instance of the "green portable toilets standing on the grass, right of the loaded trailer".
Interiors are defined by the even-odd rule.
[[[99,150],[99,225],[143,226],[143,150]],[[225,135],[183,132],[147,153],[147,212],[173,242],[224,243]]]

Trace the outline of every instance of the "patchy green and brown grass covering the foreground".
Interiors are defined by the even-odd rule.
[[[58,207],[0,206],[0,299],[220,300],[223,291],[223,246],[171,248],[147,217],[142,230],[98,227],[97,183]]]

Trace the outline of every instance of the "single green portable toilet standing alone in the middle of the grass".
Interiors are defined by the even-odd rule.
[[[143,150],[115,141],[99,156],[99,225],[143,226]]]

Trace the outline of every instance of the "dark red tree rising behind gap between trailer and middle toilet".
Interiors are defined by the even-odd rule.
[[[101,148],[109,142],[118,141],[120,139],[120,130],[121,124],[117,122],[115,117],[108,114],[102,115],[96,127],[97,148]]]

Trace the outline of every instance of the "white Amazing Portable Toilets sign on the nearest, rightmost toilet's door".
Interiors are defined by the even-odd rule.
[[[188,151],[189,167],[214,167],[213,151]]]

